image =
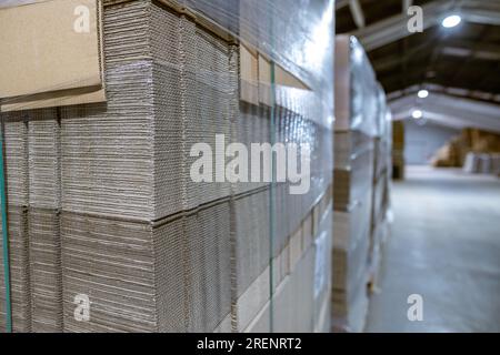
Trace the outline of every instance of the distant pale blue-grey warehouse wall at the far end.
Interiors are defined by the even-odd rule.
[[[460,134],[460,131],[430,122],[419,125],[414,120],[407,120],[404,134],[407,164],[424,165],[429,163],[438,149],[454,135]]]

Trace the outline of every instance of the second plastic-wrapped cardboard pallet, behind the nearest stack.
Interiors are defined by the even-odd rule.
[[[368,311],[378,89],[356,38],[338,36],[336,55],[332,321],[334,331],[361,332]]]

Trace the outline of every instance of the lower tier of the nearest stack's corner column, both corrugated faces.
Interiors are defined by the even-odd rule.
[[[64,328],[213,331],[230,312],[228,214],[226,202],[153,225],[66,215]],[[72,316],[78,294],[90,322]]]

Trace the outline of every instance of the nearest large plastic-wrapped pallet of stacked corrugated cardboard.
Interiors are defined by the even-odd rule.
[[[332,134],[299,100],[316,92],[240,101],[237,39],[171,3],[103,2],[107,102],[2,113],[16,332],[246,331],[303,300],[288,329],[328,328]],[[193,182],[196,143],[224,171],[218,135],[312,143],[311,189]]]

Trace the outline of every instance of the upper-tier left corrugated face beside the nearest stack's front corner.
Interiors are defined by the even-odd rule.
[[[147,1],[106,9],[108,102],[62,110],[64,211],[154,217],[149,12]]]

